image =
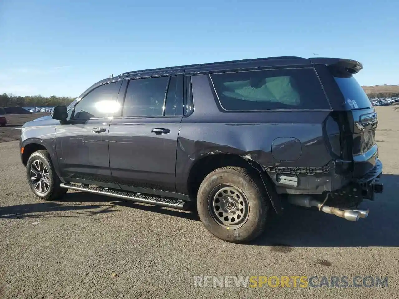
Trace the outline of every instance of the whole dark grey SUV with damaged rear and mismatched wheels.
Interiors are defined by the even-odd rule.
[[[68,189],[197,207],[230,242],[288,203],[365,218],[382,192],[378,120],[359,62],[271,57],[122,73],[22,128],[35,195]]]

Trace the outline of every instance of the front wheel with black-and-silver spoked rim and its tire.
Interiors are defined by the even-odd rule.
[[[52,201],[60,199],[67,193],[67,189],[59,187],[61,181],[54,170],[47,150],[41,149],[32,153],[26,169],[30,189],[40,199]]]

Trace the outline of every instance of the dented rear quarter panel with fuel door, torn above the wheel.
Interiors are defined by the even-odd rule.
[[[302,110],[229,113],[215,100],[207,75],[192,76],[192,92],[195,111],[183,118],[178,137],[176,190],[179,193],[187,194],[190,170],[209,155],[233,154],[255,161],[276,186],[281,184],[277,173],[271,170],[273,167],[317,169],[332,160],[324,124],[330,110],[314,110],[312,117],[309,111]],[[304,183],[306,187],[311,185]],[[306,187],[299,180],[294,188]],[[320,188],[325,189],[329,187]]]

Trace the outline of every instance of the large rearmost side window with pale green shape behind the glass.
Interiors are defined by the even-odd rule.
[[[212,74],[225,110],[330,109],[312,68]]]

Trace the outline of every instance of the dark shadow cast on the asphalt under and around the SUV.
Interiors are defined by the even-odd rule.
[[[271,249],[277,252],[290,252],[295,247],[399,247],[397,233],[399,175],[383,175],[381,182],[384,183],[384,193],[377,194],[375,201],[364,201],[359,207],[359,209],[370,210],[366,219],[351,222],[323,212],[290,206],[281,217],[275,217],[269,222],[265,233],[251,245],[272,246]],[[0,207],[0,219],[92,216],[115,212],[117,209],[112,208],[120,206],[199,221],[195,207],[190,211],[179,211],[114,200],[115,198],[107,196],[70,192],[58,202]],[[82,205],[81,203],[91,204]],[[60,215],[48,213],[67,211],[72,212]],[[203,232],[206,233],[205,230]],[[211,238],[210,234],[209,238]]]

